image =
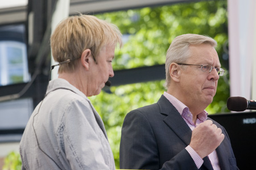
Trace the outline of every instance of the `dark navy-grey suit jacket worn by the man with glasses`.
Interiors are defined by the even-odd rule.
[[[221,169],[238,169],[226,130],[216,121],[213,123],[225,135],[224,141],[216,149]],[[125,117],[120,144],[120,168],[197,169],[185,150],[191,136],[192,130],[180,113],[162,95],[158,103],[135,109]],[[200,169],[213,170],[208,157],[204,158]]]

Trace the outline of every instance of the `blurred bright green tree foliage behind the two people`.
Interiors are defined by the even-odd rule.
[[[225,56],[223,46],[225,47],[228,41],[226,1],[178,3],[96,16],[117,25],[124,35],[125,44],[115,54],[114,70],[163,64],[172,40],[184,33],[213,37],[218,42],[217,52],[226,75],[220,78],[217,94],[206,110],[210,114],[228,112],[228,60],[222,58]],[[98,96],[90,97],[104,121],[117,168],[121,128],[125,115],[132,109],[155,103],[163,94],[163,83],[164,80],[160,80],[111,87],[110,93],[101,92]]]

